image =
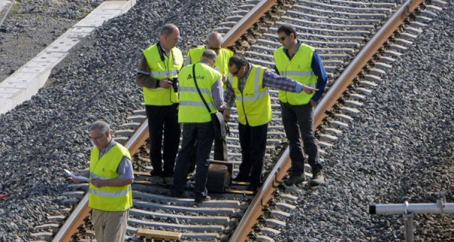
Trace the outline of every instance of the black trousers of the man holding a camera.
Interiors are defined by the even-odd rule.
[[[178,124],[178,104],[145,105],[145,110],[148,117],[150,159],[154,173],[160,176],[172,176],[181,134],[180,124]],[[162,135],[164,136],[163,143]],[[162,165],[162,160],[164,165]]]

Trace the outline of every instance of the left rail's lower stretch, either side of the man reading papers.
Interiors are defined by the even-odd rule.
[[[145,143],[148,134],[148,119],[145,119],[125,144],[131,155],[139,152],[139,148]],[[60,227],[59,231],[53,236],[52,242],[71,241],[71,237],[77,232],[77,228],[83,223],[84,218],[88,216],[90,210],[91,208],[88,207],[88,193],[86,193],[65,220],[62,227]]]

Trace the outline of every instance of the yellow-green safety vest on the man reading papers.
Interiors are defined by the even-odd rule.
[[[99,159],[99,150],[94,147],[90,156],[90,179],[118,178],[118,165],[123,156],[131,159],[129,150],[117,143]],[[132,207],[131,185],[97,188],[90,184],[88,206],[102,211],[118,212]]]

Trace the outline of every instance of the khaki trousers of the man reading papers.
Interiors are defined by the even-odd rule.
[[[125,241],[129,209],[120,212],[108,212],[93,209],[92,221],[97,242]]]

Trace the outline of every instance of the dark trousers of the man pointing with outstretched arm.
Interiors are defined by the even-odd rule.
[[[247,180],[252,187],[261,185],[261,175],[266,151],[266,134],[268,124],[251,127],[239,124],[240,146],[243,161],[238,178]]]

